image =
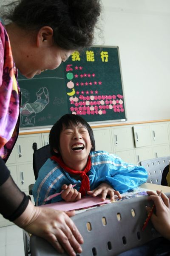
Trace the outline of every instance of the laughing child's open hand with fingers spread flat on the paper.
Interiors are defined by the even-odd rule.
[[[112,189],[108,183],[101,183],[96,189],[87,191],[87,193],[92,196],[102,195],[102,201],[105,201],[107,195],[110,195],[112,201],[114,201],[114,195],[117,195],[118,198],[122,198],[119,191]]]

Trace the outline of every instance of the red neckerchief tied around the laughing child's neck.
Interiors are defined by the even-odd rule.
[[[88,171],[90,171],[90,169],[91,169],[91,158],[90,158],[90,156],[88,156],[87,165],[85,166],[85,169],[82,170],[82,171],[76,171],[76,170],[73,170],[73,169],[69,168],[68,166],[66,166],[65,163],[63,163],[61,156],[59,156],[59,157],[52,156],[51,160],[56,161],[63,169],[65,169],[66,172],[71,173],[71,174],[80,175],[80,177],[82,178],[82,184],[81,184],[81,187],[79,189],[79,192],[81,193],[82,196],[86,195],[86,191],[90,190],[89,177],[88,177],[88,175],[86,175],[86,173]]]

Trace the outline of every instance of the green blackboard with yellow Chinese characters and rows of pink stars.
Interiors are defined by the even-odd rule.
[[[126,120],[118,47],[74,52],[56,70],[33,79],[19,74],[18,82],[21,127],[53,125],[65,113],[90,123]]]

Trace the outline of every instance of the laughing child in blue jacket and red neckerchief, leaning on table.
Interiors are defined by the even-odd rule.
[[[41,167],[32,191],[36,205],[78,201],[87,194],[102,195],[103,201],[109,195],[114,200],[115,195],[121,198],[120,193],[147,180],[142,166],[95,151],[93,131],[81,116],[62,116],[51,128],[49,144],[52,157]],[[61,195],[44,201],[61,190]]]

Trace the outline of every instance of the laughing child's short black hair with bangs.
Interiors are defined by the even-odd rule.
[[[65,127],[69,127],[70,125],[79,124],[83,125],[88,130],[92,145],[91,151],[95,151],[94,134],[88,122],[86,122],[85,119],[83,119],[81,116],[74,114],[65,114],[53,125],[50,131],[49,144],[52,155],[59,154],[54,151],[54,148],[59,152],[59,138],[62,132],[63,125],[65,125]]]

